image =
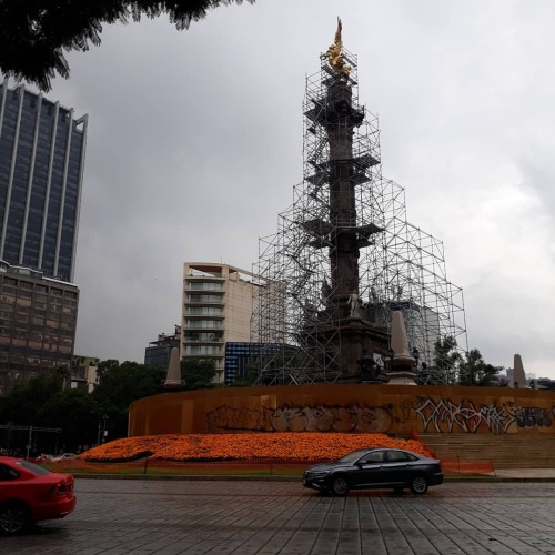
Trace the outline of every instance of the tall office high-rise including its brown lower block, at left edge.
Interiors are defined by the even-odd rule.
[[[87,123],[24,84],[0,83],[0,394],[70,371]]]

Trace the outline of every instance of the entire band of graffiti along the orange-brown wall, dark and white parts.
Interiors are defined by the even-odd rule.
[[[218,432],[342,432],[390,433],[416,428],[424,433],[473,434],[480,428],[494,434],[551,427],[555,406],[516,406],[514,401],[481,404],[471,400],[417,397],[382,406],[282,406],[234,408],[221,405],[206,413],[206,431]]]

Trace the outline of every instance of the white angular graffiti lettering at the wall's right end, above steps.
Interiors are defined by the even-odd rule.
[[[473,434],[485,426],[494,434],[506,434],[511,426],[517,428],[549,427],[552,415],[546,408],[517,407],[513,401],[496,404],[478,404],[472,401],[418,398],[414,411],[422,418],[424,432]],[[555,415],[555,407],[552,407]]]

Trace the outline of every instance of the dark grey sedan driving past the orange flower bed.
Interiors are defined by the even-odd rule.
[[[423,495],[431,485],[443,483],[440,461],[403,450],[357,450],[339,461],[311,466],[303,474],[303,485],[333,495],[349,490],[410,487]]]

